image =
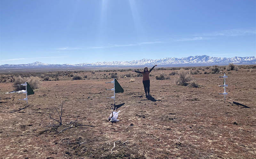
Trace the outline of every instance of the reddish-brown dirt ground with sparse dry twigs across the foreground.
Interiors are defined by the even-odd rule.
[[[0,83],[0,158],[256,158],[256,69],[226,74],[226,102],[222,75],[191,75],[199,88],[176,85],[178,75],[150,77],[149,99],[142,77],[119,78],[113,124],[111,79],[41,81],[28,104],[18,101],[24,94],[4,94],[12,83]],[[49,112],[58,119],[62,102],[63,125],[53,126]]]

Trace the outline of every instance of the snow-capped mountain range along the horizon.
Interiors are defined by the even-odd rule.
[[[113,61],[113,62],[96,62],[96,63],[81,63],[81,64],[44,64],[41,62],[34,62],[32,64],[4,64],[0,65],[0,69],[7,68],[36,68],[36,67],[86,67],[86,66],[95,66],[95,67],[108,67],[108,66],[143,66],[143,65],[211,65],[211,64],[256,64],[256,57],[210,57],[207,55],[203,56],[190,56],[190,57],[167,57],[162,59],[141,59],[133,61]]]

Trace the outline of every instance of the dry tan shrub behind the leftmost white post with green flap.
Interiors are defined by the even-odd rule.
[[[25,86],[18,86],[20,84],[25,83],[26,81],[28,81],[28,84],[30,85],[31,88],[38,88],[39,85],[39,78],[38,77],[30,77],[30,78],[26,78],[26,77],[15,77],[14,78],[14,82],[13,82],[13,87],[15,88],[15,90],[19,91],[22,89],[26,89]]]

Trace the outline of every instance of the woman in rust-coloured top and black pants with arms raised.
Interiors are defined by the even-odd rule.
[[[143,76],[142,82],[143,82],[143,86],[144,86],[144,90],[145,90],[145,94],[146,97],[150,96],[149,94],[149,86],[150,86],[150,80],[149,80],[149,73],[154,69],[154,67],[156,67],[157,64],[155,66],[153,66],[149,71],[148,71],[148,67],[145,67],[143,71],[135,71],[133,70],[133,72],[137,72],[137,73],[141,73]],[[147,95],[148,92],[148,95]]]

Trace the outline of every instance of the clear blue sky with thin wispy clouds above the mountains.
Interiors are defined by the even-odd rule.
[[[256,56],[255,0],[0,3],[0,64]]]

